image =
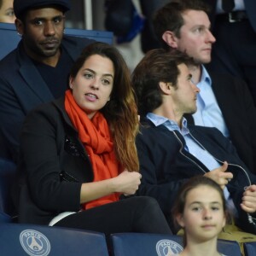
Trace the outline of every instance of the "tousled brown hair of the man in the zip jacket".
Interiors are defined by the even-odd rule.
[[[178,50],[151,49],[143,57],[131,75],[131,83],[136,92],[138,112],[145,115],[162,104],[160,82],[172,83],[177,87],[179,64],[192,65],[194,61]]]

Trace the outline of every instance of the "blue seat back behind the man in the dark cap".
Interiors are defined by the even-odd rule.
[[[113,44],[113,32],[65,28],[67,36],[90,38],[99,42]],[[0,60],[17,46],[20,36],[14,24],[0,22]]]

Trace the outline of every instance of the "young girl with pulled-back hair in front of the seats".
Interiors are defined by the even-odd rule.
[[[192,177],[184,183],[173,207],[173,217],[184,230],[180,256],[219,256],[218,234],[226,223],[223,190],[208,177]]]

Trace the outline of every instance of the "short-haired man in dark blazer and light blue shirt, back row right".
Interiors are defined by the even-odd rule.
[[[155,32],[164,49],[181,50],[195,60],[190,72],[201,92],[188,122],[218,128],[256,174],[256,109],[247,84],[229,74],[208,73],[204,67],[215,42],[208,11],[205,1],[173,0],[154,16]]]

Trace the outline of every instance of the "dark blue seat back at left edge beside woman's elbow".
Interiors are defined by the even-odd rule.
[[[0,212],[12,214],[13,202],[10,196],[12,183],[15,180],[16,165],[0,158]]]

